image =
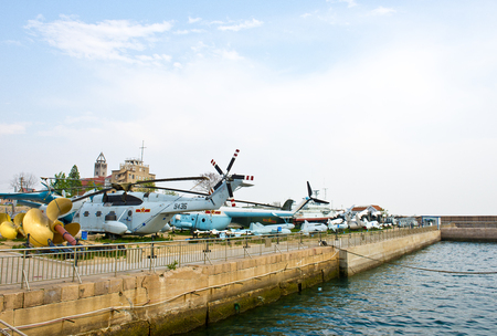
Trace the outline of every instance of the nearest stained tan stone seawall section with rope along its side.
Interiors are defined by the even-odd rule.
[[[321,246],[213,265],[135,273],[0,294],[0,319],[28,335],[171,335],[339,274]]]

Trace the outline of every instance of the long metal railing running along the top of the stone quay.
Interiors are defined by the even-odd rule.
[[[129,271],[176,269],[191,264],[207,264],[253,258],[267,253],[283,253],[318,245],[349,248],[436,230],[426,228],[394,228],[370,232],[335,234],[245,235],[224,239],[192,239],[182,241],[56,246],[0,250],[0,286]]]

